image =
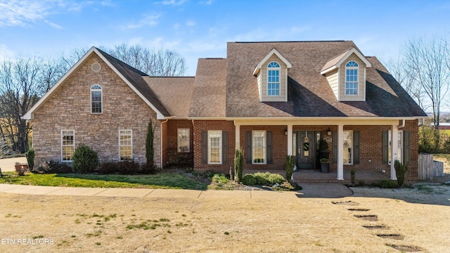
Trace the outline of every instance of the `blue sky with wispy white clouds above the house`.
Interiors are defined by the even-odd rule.
[[[127,43],[177,51],[195,75],[227,41],[353,40],[386,62],[410,38],[448,33],[449,13],[444,0],[0,0],[0,60]]]

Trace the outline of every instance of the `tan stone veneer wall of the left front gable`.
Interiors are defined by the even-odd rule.
[[[101,71],[91,70],[93,63]],[[90,89],[100,84],[103,113],[91,114]],[[119,160],[119,129],[133,132],[133,156],[146,162],[149,120],[155,129],[155,165],[161,165],[160,121],[156,113],[101,58],[91,54],[34,112],[33,147],[36,162],[61,160],[61,130],[75,130],[75,148],[86,143],[102,161]]]

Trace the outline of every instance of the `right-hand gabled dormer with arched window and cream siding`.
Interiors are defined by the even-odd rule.
[[[366,101],[366,68],[371,63],[356,48],[341,53],[323,66],[321,74],[328,80],[338,101]]]

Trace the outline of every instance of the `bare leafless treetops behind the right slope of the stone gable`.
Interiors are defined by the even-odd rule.
[[[111,56],[154,77],[179,77],[186,72],[185,60],[175,51],[120,44],[108,50]]]

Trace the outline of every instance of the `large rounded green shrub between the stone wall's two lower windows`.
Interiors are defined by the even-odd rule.
[[[98,154],[84,143],[80,143],[72,157],[73,169],[76,173],[93,173],[98,166]]]

